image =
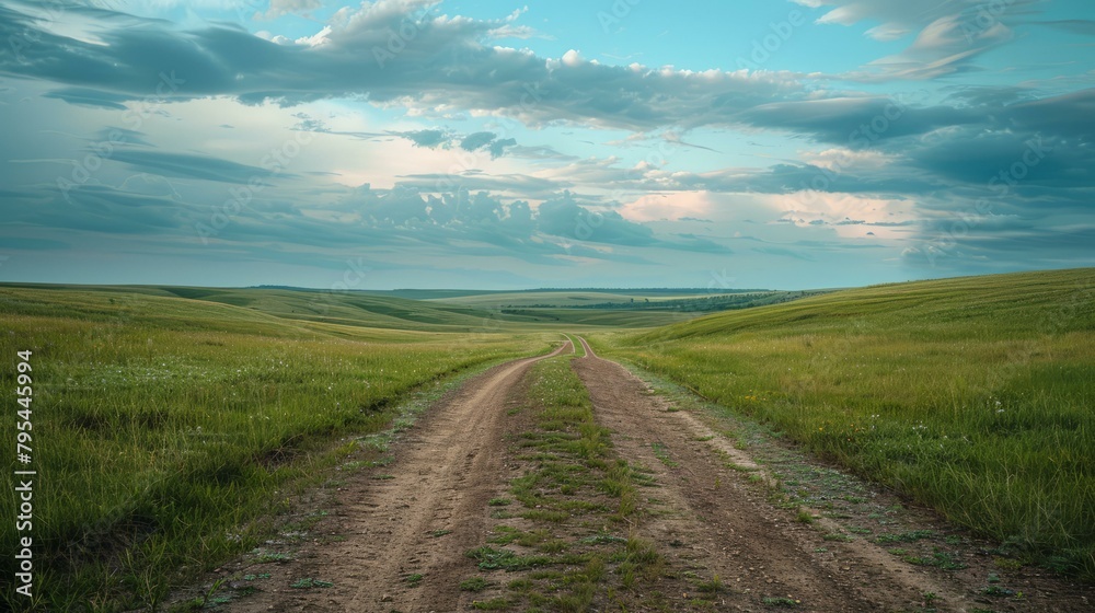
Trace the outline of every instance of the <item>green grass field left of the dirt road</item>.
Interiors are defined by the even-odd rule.
[[[408,391],[558,338],[314,324],[124,288],[0,288],[0,385],[33,351],[34,593],[53,611],[154,605],[180,569],[254,547],[290,486],[355,452],[345,437],[388,428]]]

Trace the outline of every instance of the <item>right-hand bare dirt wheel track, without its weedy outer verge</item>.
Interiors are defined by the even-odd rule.
[[[858,572],[822,564],[804,551],[810,529],[789,521],[773,509],[761,488],[741,482],[726,469],[706,442],[687,427],[678,413],[669,413],[645,383],[623,367],[596,357],[580,339],[586,357],[575,370],[589,390],[598,419],[613,430],[619,453],[656,471],[657,493],[668,513],[649,522],[646,531],[656,543],[679,543],[675,566],[705,567],[719,576],[731,593],[731,605],[754,608],[763,598],[802,601],[799,611],[898,610],[919,593],[885,577],[873,577],[875,591],[890,594],[887,602],[860,593]],[[669,467],[654,453],[664,446]],[[672,554],[670,554],[672,555]],[[748,590],[748,591],[746,591]],[[888,609],[887,609],[888,608]]]

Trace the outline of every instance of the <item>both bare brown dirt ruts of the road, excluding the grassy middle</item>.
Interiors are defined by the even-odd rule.
[[[657,508],[635,530],[658,546],[670,572],[719,577],[725,589],[712,601],[715,610],[1090,606],[1086,588],[1037,574],[1024,576],[1028,591],[1023,598],[989,598],[984,580],[991,557],[956,574],[908,564],[866,539],[833,542],[830,536],[843,534],[843,525],[817,510],[774,505],[764,471],[748,455],[581,344],[586,357],[575,359],[573,368],[589,391],[596,418],[613,432],[615,452],[653,469],[658,484]],[[553,355],[570,350],[566,344]],[[472,610],[475,594],[458,587],[475,570],[465,552],[487,542],[495,523],[488,500],[518,476],[517,465],[507,464],[506,416],[527,400],[526,374],[539,359],[496,367],[430,409],[400,443],[392,464],[347,479],[332,518],[314,529],[331,537],[306,541],[291,562],[237,566],[233,587],[241,576],[265,572],[268,578],[222,610]],[[746,478],[742,467],[759,476]],[[803,512],[812,519],[804,520]],[[323,581],[319,589],[290,587],[312,578]]]

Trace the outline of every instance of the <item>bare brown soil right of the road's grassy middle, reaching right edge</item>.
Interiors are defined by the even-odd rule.
[[[775,479],[703,420],[677,410],[623,367],[587,357],[574,368],[598,419],[613,430],[619,454],[657,470],[662,511],[643,532],[680,569],[714,572],[729,592],[719,610],[764,611],[1086,611],[1088,587],[1027,571],[999,581],[999,562],[975,552],[911,556],[909,543],[856,535],[854,514],[783,508]],[[821,470],[821,469],[819,469]],[[823,469],[831,470],[831,469]],[[873,491],[874,508],[886,502]],[[891,504],[899,501],[892,497]],[[657,507],[654,507],[657,508]],[[906,513],[898,537],[941,534],[931,513]],[[967,548],[976,544],[967,542]],[[926,562],[927,564],[924,564]],[[953,569],[946,569],[949,565]],[[964,568],[961,568],[964,567]],[[989,582],[986,582],[986,581]]]

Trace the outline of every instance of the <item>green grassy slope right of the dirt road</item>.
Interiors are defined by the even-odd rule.
[[[589,340],[1095,577],[1095,269],[845,290]]]

